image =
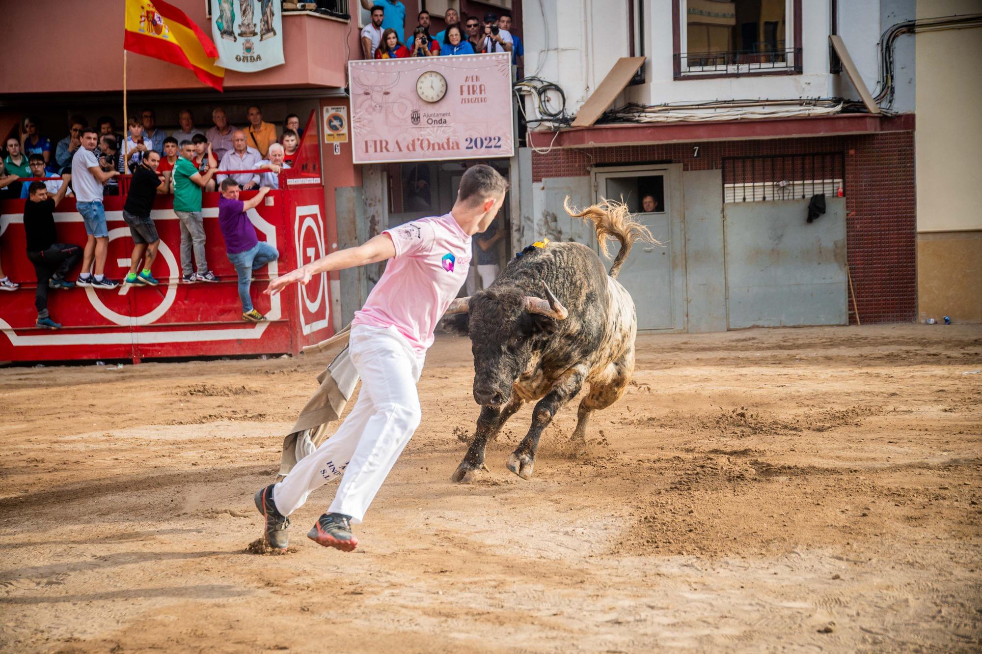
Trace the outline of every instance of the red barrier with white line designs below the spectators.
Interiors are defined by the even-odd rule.
[[[161,195],[152,213],[161,239],[152,274],[161,281],[160,286],[51,290],[48,307],[52,318],[64,325],[57,331],[34,327],[36,285],[25,250],[26,200],[0,202],[0,257],[4,272],[21,284],[16,292],[0,293],[0,359],[131,358],[137,362],[146,357],[297,354],[303,346],[331,336],[326,274],[304,289],[293,287],[273,299],[262,294],[269,279],[327,252],[327,218],[319,177],[289,180],[284,176],[281,187],[285,190],[270,191],[263,203],[248,212],[259,239],[280,252],[278,261],[255,273],[252,300],[268,318],[256,324],[242,319],[236,273],[218,229],[217,192],[204,193],[202,213],[208,266],[221,277],[220,283],[180,283],[180,226],[173,198]],[[244,191],[242,197],[253,193]],[[130,228],[123,222],[125,197],[110,196],[104,201],[109,226],[106,275],[122,281],[133,249]],[[84,245],[82,216],[75,210],[74,197],[62,200],[55,222],[60,242]],[[73,271],[69,279],[77,274],[78,270]]]

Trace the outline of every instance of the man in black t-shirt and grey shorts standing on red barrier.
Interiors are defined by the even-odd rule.
[[[130,192],[127,193],[126,204],[123,205],[123,220],[130,226],[130,236],[133,237],[133,253],[130,255],[130,272],[126,283],[138,286],[156,286],[157,280],[150,274],[153,259],[157,256],[157,246],[160,237],[157,228],[150,217],[153,200],[163,192],[164,183],[157,177],[157,166],[160,164],[160,153],[147,150],[143,160],[133,171],[130,182]],[[146,254],[146,261],[139,274],[139,262]]]

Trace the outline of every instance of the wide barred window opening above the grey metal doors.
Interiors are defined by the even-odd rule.
[[[724,202],[806,199],[846,194],[842,152],[723,158]]]

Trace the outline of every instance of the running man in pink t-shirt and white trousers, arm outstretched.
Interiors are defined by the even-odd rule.
[[[508,183],[493,168],[473,166],[461,178],[450,213],[387,230],[270,283],[266,293],[275,295],[294,282],[306,285],[313,275],[392,259],[352,321],[349,352],[361,377],[354,409],[337,433],[300,459],[283,481],[255,493],[270,546],[287,547],[287,516],[311,491],[343,472],[328,513],[307,537],[345,552],[357,546],[351,525],[361,522],[419,426],[416,382],[436,324],[467,278],[470,237],[491,224],[507,190]]]

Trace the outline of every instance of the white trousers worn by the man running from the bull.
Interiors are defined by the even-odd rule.
[[[423,361],[403,335],[395,327],[355,325],[349,348],[361,377],[358,400],[337,433],[276,484],[273,500],[284,516],[300,509],[314,489],[341,476],[328,511],[358,524],[419,426],[416,382]]]

